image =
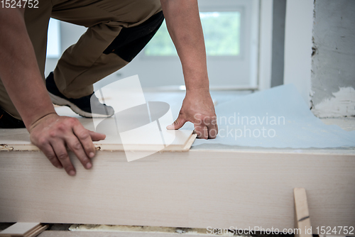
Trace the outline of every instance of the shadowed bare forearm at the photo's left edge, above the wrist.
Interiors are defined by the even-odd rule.
[[[0,9],[0,78],[28,129],[55,113],[18,9]]]

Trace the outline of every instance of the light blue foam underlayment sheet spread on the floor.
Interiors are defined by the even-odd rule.
[[[219,134],[193,146],[223,144],[262,148],[355,146],[355,131],[325,125],[312,114],[293,84],[225,101],[216,106]]]

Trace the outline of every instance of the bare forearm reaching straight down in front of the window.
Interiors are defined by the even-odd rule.
[[[206,50],[197,0],[160,0],[187,90],[208,89]]]

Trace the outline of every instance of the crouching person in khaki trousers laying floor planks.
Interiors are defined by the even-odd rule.
[[[94,82],[131,62],[164,17],[186,85],[180,114],[167,128],[179,129],[190,121],[199,138],[217,136],[197,0],[13,2],[4,1],[0,6],[0,128],[26,127],[31,142],[55,167],[76,174],[68,148],[85,168],[91,168],[92,141],[105,135],[88,131],[77,118],[59,116],[53,103],[70,106],[84,117],[112,116],[111,106],[98,99],[90,104]],[[44,80],[50,17],[85,26],[87,31],[65,50],[54,72]],[[91,106],[108,114],[93,115]]]

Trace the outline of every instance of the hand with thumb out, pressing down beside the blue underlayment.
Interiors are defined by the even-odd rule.
[[[216,138],[217,116],[208,88],[188,90],[178,118],[167,129],[179,129],[187,121],[194,123],[197,138]]]

